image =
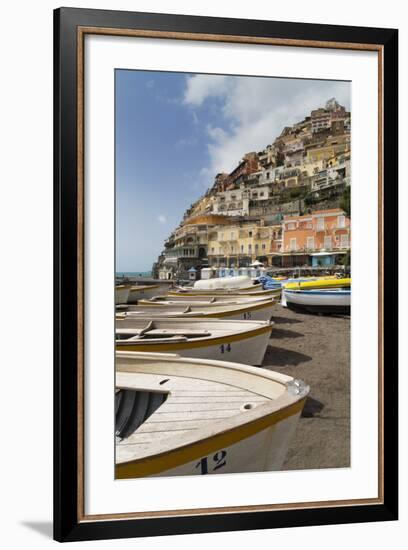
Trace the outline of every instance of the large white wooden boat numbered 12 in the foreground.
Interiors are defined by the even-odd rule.
[[[116,354],[117,479],[281,470],[309,387],[177,355]]]

